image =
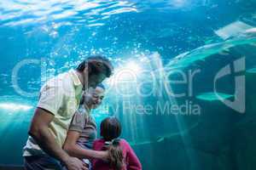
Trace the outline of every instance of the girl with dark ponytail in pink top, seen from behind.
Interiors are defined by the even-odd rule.
[[[102,139],[96,139],[93,150],[108,150],[109,162],[94,159],[93,170],[142,170],[142,164],[125,139],[118,139],[121,124],[115,117],[108,117],[101,123]]]

